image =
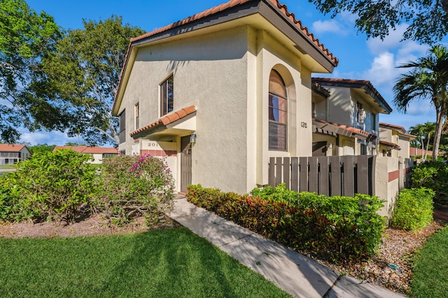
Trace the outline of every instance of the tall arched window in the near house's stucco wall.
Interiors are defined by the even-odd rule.
[[[286,151],[288,97],[280,74],[269,75],[269,149]]]

